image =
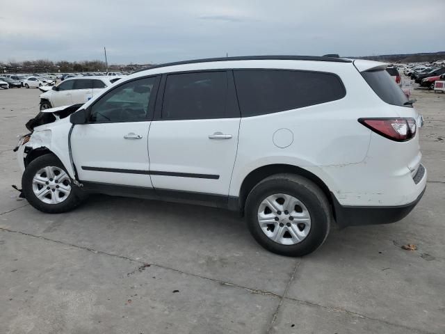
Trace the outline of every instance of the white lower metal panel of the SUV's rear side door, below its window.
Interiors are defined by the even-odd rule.
[[[150,170],[219,175],[217,180],[152,175],[154,188],[227,195],[239,122],[239,118],[152,122],[148,140]],[[209,139],[215,132],[230,134],[232,138]]]

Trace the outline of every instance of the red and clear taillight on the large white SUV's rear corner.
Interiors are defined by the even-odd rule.
[[[409,141],[416,135],[414,118],[359,118],[359,122],[392,141]]]

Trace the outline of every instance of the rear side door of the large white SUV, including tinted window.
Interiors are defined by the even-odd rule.
[[[231,71],[167,74],[148,146],[155,189],[228,195],[240,113]]]

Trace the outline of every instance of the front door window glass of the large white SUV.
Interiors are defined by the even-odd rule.
[[[129,81],[101,97],[91,107],[90,122],[138,122],[147,120],[156,77]]]

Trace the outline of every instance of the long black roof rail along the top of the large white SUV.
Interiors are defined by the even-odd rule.
[[[285,60],[285,61],[332,61],[334,63],[352,63],[349,59],[339,58],[338,54],[327,54],[325,56],[238,56],[238,57],[223,57],[223,58],[204,58],[194,59],[191,61],[177,61],[175,63],[165,63],[146,67],[137,70],[133,73],[152,70],[152,68],[167,67],[174,65],[185,65],[195,63],[211,63],[213,61],[264,61],[264,60]]]

